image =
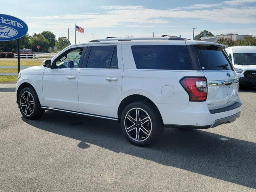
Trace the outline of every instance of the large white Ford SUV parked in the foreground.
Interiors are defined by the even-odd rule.
[[[28,119],[54,110],[117,120],[130,142],[145,146],[164,127],[212,128],[240,116],[224,48],[173,36],[75,44],[22,70],[17,102]]]

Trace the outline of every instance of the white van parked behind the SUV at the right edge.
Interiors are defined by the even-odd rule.
[[[234,46],[225,50],[236,68],[240,84],[256,86],[256,46]]]

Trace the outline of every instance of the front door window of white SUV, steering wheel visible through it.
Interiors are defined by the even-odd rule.
[[[84,48],[72,48],[54,60],[54,68],[78,68]]]

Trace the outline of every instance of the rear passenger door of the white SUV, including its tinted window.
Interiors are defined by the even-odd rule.
[[[120,43],[89,46],[78,80],[81,112],[116,118],[122,75]]]

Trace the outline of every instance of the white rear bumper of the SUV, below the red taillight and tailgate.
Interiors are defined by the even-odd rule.
[[[240,116],[241,103],[220,110],[209,111],[206,102],[189,104],[157,104],[165,127],[206,129],[232,122]]]

